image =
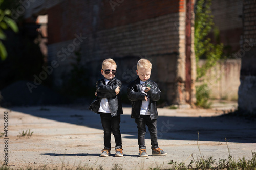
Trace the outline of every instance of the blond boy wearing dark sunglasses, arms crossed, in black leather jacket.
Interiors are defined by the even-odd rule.
[[[104,76],[96,82],[96,98],[89,109],[100,114],[101,124],[104,130],[104,149],[100,156],[109,156],[111,150],[111,132],[115,137],[116,154],[123,156],[122,139],[120,133],[120,115],[123,114],[121,97],[119,95],[122,82],[115,78],[116,62],[113,59],[105,59],[102,62],[101,74]]]

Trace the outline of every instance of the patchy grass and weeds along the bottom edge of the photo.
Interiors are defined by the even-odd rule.
[[[226,140],[226,139],[225,139]],[[200,144],[199,144],[199,132],[198,132],[198,141],[197,141],[197,146],[198,146],[198,150],[200,155],[194,157],[193,154],[191,154],[184,162],[177,162],[174,160],[171,160],[168,163],[168,167],[163,167],[162,165],[156,165],[156,167],[151,167],[148,168],[150,170],[162,170],[162,169],[169,169],[169,170],[196,170],[196,169],[215,169],[215,170],[233,170],[233,169],[254,169],[256,170],[256,152],[252,152],[252,156],[249,159],[246,159],[245,156],[243,156],[242,158],[239,158],[238,160],[234,159],[233,156],[230,155],[230,150],[228,147],[228,142],[226,140],[226,145],[227,145],[227,149],[228,149],[228,153],[229,156],[227,159],[219,159],[216,160],[214,159],[212,156],[208,157],[208,158],[204,158],[204,156],[201,153],[200,150]],[[192,157],[192,160],[190,161],[190,163],[188,165],[185,164],[185,162]],[[139,158],[138,158],[139,159]],[[95,164],[94,164],[95,165]],[[144,165],[142,165],[142,167],[144,167]],[[12,168],[9,166],[5,166],[4,164],[2,164],[0,166],[0,170],[11,170]],[[45,166],[40,166],[38,168],[32,168],[32,167],[26,167],[26,168],[18,168],[20,170],[48,170],[51,169],[50,167],[47,167],[47,165]],[[55,168],[56,170],[58,170],[58,168]],[[76,170],[103,170],[102,166],[98,166],[97,168],[94,168],[93,166],[90,166],[88,164],[84,165],[84,166],[78,166],[78,167],[74,167],[74,168],[65,168],[65,165],[62,165],[61,168],[59,168],[61,170],[65,169],[76,169]],[[119,164],[114,164],[113,167],[111,168],[112,170],[122,170],[122,165]],[[124,168],[125,169],[125,168]]]

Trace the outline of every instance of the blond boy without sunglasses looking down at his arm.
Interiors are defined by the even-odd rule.
[[[157,106],[161,91],[157,83],[150,79],[152,64],[147,59],[137,63],[138,78],[132,81],[128,88],[128,98],[132,101],[132,118],[135,118],[138,128],[139,156],[147,157],[145,146],[146,125],[150,131],[152,155],[167,155],[157,142]]]

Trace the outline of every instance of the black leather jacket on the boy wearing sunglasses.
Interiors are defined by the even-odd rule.
[[[107,98],[111,116],[123,114],[122,102],[120,94],[116,95],[115,89],[121,88],[122,82],[116,78],[111,79],[108,85],[105,85],[105,79],[100,79],[96,82],[97,97],[91,103],[89,110],[99,114],[100,101],[102,98]]]

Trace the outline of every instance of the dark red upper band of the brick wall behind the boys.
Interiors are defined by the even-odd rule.
[[[118,5],[112,7],[109,0],[65,0],[49,9],[49,44],[73,39],[75,33],[88,35],[100,30],[184,11],[184,0],[180,0],[180,3],[178,0],[112,1]]]

